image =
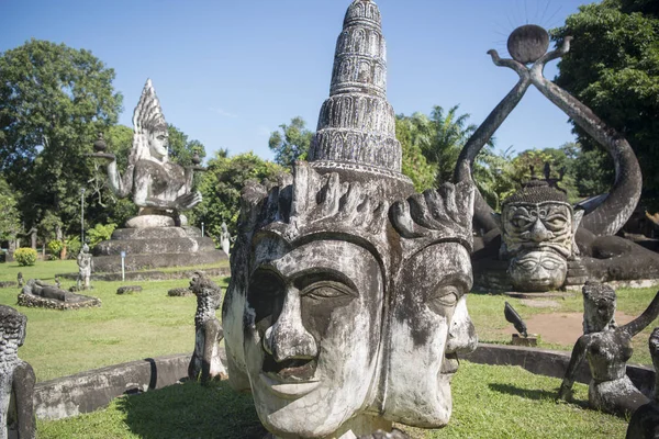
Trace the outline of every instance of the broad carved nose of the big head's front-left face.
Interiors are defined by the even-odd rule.
[[[279,318],[266,329],[264,349],[277,362],[316,357],[319,349],[315,338],[302,324],[300,294],[297,290],[287,293]]]

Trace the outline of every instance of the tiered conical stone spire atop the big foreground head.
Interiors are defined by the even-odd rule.
[[[321,108],[309,161],[314,168],[358,169],[394,177],[402,151],[387,101],[387,43],[371,0],[349,5],[336,42],[330,99]]]

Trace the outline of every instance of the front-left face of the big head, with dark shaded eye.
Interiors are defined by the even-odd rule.
[[[330,435],[365,405],[375,376],[378,262],[342,240],[290,249],[265,237],[255,255],[245,360],[259,417],[276,435]]]

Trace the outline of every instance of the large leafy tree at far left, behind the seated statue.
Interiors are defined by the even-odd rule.
[[[116,122],[114,70],[86,49],[31,40],[0,54],[0,171],[27,227],[46,216],[79,232],[80,188],[93,166],[85,154]]]

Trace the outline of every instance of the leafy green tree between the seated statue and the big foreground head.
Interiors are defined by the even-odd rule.
[[[235,234],[241,211],[241,190],[245,182],[249,179],[273,179],[284,170],[252,151],[228,157],[223,149],[209,160],[208,169],[198,187],[203,201],[192,212],[197,224],[203,222],[206,233],[215,239],[220,238],[223,222]]]

